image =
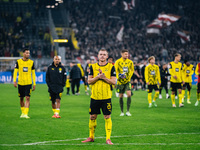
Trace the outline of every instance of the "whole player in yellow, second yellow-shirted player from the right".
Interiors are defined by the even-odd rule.
[[[180,63],[181,60],[181,54],[176,53],[174,61],[170,62],[169,64],[169,73],[171,75],[171,100],[172,100],[172,107],[176,107],[175,104],[175,91],[178,89],[179,92],[179,107],[183,107],[184,104],[182,104],[182,83],[185,82],[182,79],[182,63]]]

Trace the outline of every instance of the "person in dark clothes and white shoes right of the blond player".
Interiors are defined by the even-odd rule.
[[[168,76],[170,76],[167,69],[167,64],[163,64],[163,66],[160,68],[160,76],[161,76],[161,85],[159,88],[159,99],[162,99],[161,92],[163,88],[165,88],[166,91],[166,98],[170,98],[167,88]]]

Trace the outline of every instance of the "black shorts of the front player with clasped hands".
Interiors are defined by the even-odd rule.
[[[111,99],[94,100],[91,98],[89,114],[91,114],[91,115],[101,114],[100,109],[102,110],[104,115],[110,115],[112,112]]]

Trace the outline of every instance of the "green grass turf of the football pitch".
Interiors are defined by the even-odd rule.
[[[130,110],[132,117],[119,117],[118,98],[113,95],[111,139],[115,145],[112,146],[105,145],[103,115],[97,119],[95,142],[81,143],[88,137],[90,103],[83,86],[80,96],[63,93],[61,119],[51,118],[53,112],[46,85],[37,85],[31,95],[30,119],[19,118],[17,88],[0,84],[0,93],[0,149],[200,149],[200,106],[194,106],[196,86],[192,89],[192,104],[185,103],[184,108],[172,108],[171,100],[165,99],[165,91],[164,98],[157,100],[158,107],[148,108],[147,92],[135,91]],[[176,104],[178,106],[178,100]],[[38,144],[24,145],[26,143]]]

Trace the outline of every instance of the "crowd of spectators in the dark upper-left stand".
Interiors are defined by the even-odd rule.
[[[0,5],[5,7],[7,4]],[[15,7],[14,5],[12,7]],[[28,5],[30,4],[25,6]],[[30,49],[33,58],[41,58],[42,55],[50,56],[49,27],[37,26],[34,23],[36,19],[45,17],[44,9],[41,9],[39,5],[33,5],[34,9],[29,11],[24,9],[25,6],[18,8],[20,12],[16,12],[19,13],[12,9],[0,9],[0,56],[19,57],[22,56],[24,48]]]

